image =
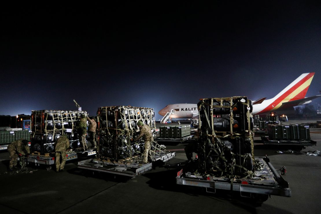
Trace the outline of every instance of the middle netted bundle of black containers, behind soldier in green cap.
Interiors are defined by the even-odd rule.
[[[135,142],[139,135],[139,120],[147,124],[154,136],[155,118],[152,108],[111,106],[100,107],[98,119],[98,157],[108,161],[121,161],[136,158],[143,153],[144,141]],[[164,150],[155,141],[152,142],[152,156],[156,151]]]

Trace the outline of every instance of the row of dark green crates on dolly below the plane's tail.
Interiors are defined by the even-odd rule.
[[[273,125],[268,124],[269,139],[277,140],[308,140],[310,129],[304,124]]]

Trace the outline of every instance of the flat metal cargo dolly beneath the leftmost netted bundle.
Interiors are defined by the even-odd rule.
[[[96,150],[87,150],[82,152],[73,151],[73,152],[67,153],[66,155],[67,155],[66,161],[69,161],[77,158],[86,158],[86,157],[91,157],[92,155],[96,155]],[[56,159],[55,156],[50,156],[49,154],[40,155],[39,152],[33,152],[28,156],[28,158],[25,158],[25,162],[27,164],[34,163],[36,166],[46,165],[48,169],[50,168],[50,165],[53,165],[56,163],[55,159]]]

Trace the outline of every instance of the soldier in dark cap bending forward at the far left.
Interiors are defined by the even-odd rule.
[[[28,141],[19,139],[10,143],[8,146],[8,152],[10,157],[9,163],[9,171],[13,171],[17,169],[18,157],[22,157],[23,155],[30,154]]]

